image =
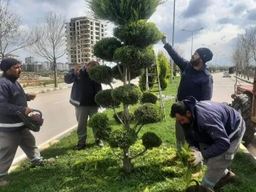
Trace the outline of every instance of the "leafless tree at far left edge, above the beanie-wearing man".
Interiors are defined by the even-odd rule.
[[[30,32],[21,27],[21,16],[12,11],[9,1],[0,0],[0,58],[15,50],[31,46],[38,39],[31,39]]]

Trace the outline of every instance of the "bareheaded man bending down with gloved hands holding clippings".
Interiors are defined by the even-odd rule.
[[[181,123],[191,146],[191,166],[203,160],[207,165],[201,185],[217,189],[235,182],[235,174],[227,168],[245,133],[241,115],[223,103],[186,97],[171,106],[171,117]]]

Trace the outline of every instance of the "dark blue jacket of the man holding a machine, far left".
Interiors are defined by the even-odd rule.
[[[17,111],[28,107],[26,95],[16,79],[5,73],[0,77],[0,132],[13,132],[24,127]]]

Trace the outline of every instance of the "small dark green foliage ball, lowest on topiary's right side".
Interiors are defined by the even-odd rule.
[[[153,147],[158,147],[162,143],[160,137],[158,137],[153,132],[146,132],[142,136],[142,144],[145,146],[146,149],[152,149]]]

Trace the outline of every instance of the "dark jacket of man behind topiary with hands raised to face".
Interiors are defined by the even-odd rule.
[[[66,83],[73,83],[70,103],[75,107],[96,106],[95,95],[102,90],[102,85],[89,78],[85,66],[78,75],[74,75],[74,71],[75,69],[70,70],[64,78]]]

